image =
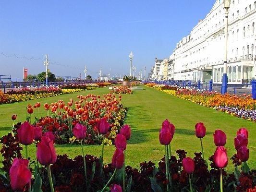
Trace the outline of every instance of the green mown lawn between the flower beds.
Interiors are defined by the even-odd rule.
[[[205,156],[211,156],[215,151],[212,133],[216,129],[221,129],[227,134],[226,148],[228,156],[236,152],[233,147],[236,131],[241,127],[246,127],[249,131],[250,168],[256,168],[256,124],[247,120],[242,120],[214,109],[206,108],[198,104],[182,100],[175,96],[167,95],[163,92],[147,88],[136,90],[133,95],[124,95],[122,103],[128,108],[125,123],[132,127],[132,137],[127,145],[126,162],[127,165],[138,167],[140,162],[158,162],[164,154],[164,147],[159,144],[158,134],[161,123],[165,119],[171,120],[175,125],[176,131],[171,142],[172,153],[177,149],[184,149],[188,156],[194,156],[194,152],[199,152],[200,139],[195,137],[195,123],[204,122],[207,128],[207,135],[203,138]],[[58,99],[67,102],[69,98],[75,99],[77,95],[89,93],[102,95],[108,93],[108,88],[98,88],[74,94],[30,100],[21,103],[0,105],[0,136],[10,131],[12,124],[12,113],[17,114],[17,120],[25,119],[25,108],[27,104],[41,102],[51,103]],[[43,107],[39,110],[41,115],[46,112]],[[70,157],[80,154],[80,146],[76,145],[56,145],[58,154],[68,154]],[[104,161],[109,163],[114,151],[114,146],[105,148]],[[29,156],[35,158],[35,146],[29,147]],[[89,145],[85,147],[85,152],[99,156],[101,147]],[[228,170],[232,170],[232,161],[229,161]]]

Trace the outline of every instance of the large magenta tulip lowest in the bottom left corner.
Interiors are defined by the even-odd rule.
[[[28,168],[28,160],[14,158],[9,174],[12,190],[23,191],[24,186],[30,183],[31,180],[31,172]]]

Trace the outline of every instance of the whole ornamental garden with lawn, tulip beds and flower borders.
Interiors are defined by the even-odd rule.
[[[135,86],[0,92],[0,192],[256,191],[251,96]]]

